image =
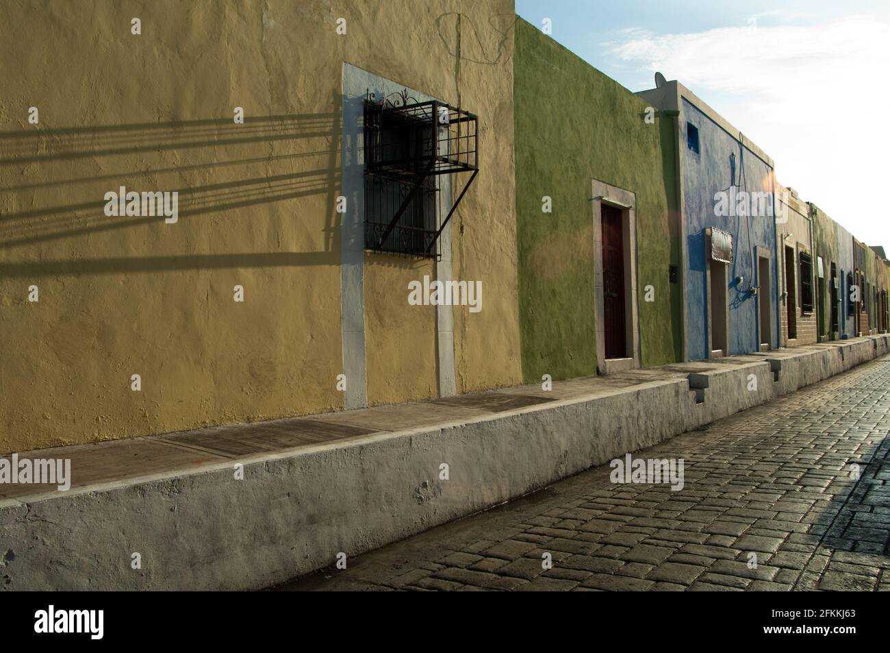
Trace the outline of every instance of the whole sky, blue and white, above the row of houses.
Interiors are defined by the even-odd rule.
[[[677,79],[775,162],[776,178],[890,252],[890,2],[516,0],[631,91]],[[885,184],[887,184],[885,186]]]

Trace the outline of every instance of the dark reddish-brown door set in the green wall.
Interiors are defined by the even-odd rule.
[[[603,204],[603,327],[606,358],[625,358],[624,242],[621,210]]]

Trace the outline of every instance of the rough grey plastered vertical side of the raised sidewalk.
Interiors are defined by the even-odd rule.
[[[340,551],[354,556],[655,445],[888,349],[884,335],[751,355],[732,368],[702,365],[689,380],[256,457],[243,461],[243,480],[227,462],[4,500],[0,587],[263,587],[332,564]],[[756,390],[748,389],[750,375]],[[449,463],[448,481],[439,480],[441,462]],[[130,567],[133,552],[142,554],[142,570]]]

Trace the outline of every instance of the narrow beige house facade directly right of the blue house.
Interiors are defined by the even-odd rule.
[[[779,346],[816,342],[813,225],[793,188],[776,183],[776,257],[779,262]]]

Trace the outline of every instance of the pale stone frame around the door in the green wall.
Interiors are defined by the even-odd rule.
[[[594,226],[594,297],[596,320],[596,371],[609,374],[640,367],[640,338],[636,297],[636,195],[623,188],[591,180]],[[603,204],[621,211],[624,246],[624,310],[626,358],[605,357],[605,318],[603,315]]]

